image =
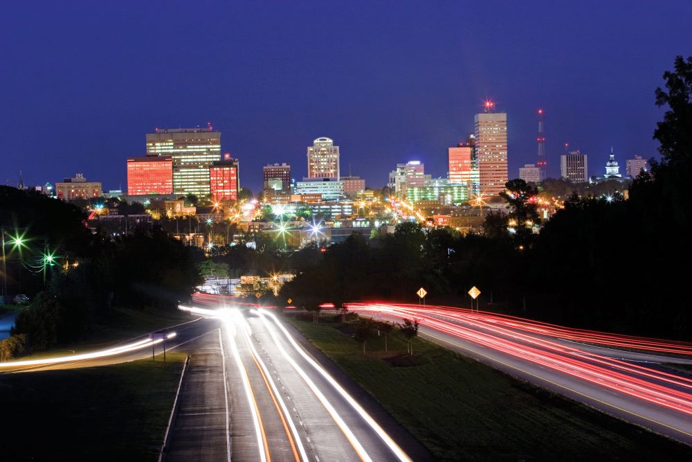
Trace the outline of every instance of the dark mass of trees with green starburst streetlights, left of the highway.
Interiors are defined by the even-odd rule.
[[[173,310],[201,282],[198,249],[157,230],[93,234],[80,208],[35,191],[0,186],[0,224],[8,292],[36,294],[13,332],[26,335],[31,350],[89,335],[114,307]]]

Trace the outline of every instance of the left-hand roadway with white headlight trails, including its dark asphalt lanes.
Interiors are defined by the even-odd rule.
[[[197,353],[166,461],[411,460],[271,310],[223,301],[181,307],[221,326],[189,345]],[[396,431],[417,460],[431,459]]]

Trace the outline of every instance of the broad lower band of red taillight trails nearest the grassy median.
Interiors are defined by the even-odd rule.
[[[352,310],[363,310],[365,312],[388,312],[397,317],[415,316],[421,319],[421,326],[444,332],[462,340],[471,341],[474,344],[485,346],[507,355],[534,362],[535,364],[545,366],[554,371],[572,375],[573,377],[598,384],[601,387],[612,389],[619,393],[624,393],[647,402],[652,402],[656,405],[692,415],[692,395],[690,393],[641,380],[638,377],[625,375],[617,372],[617,369],[692,390],[692,380],[686,379],[686,377],[659,373],[653,369],[628,364],[619,359],[593,353],[577,353],[553,341],[540,339],[540,337],[531,337],[504,328],[497,328],[492,324],[477,324],[471,316],[464,315],[464,317],[462,317],[459,314],[450,313],[448,311],[445,312],[444,310],[435,310],[435,308],[426,311],[417,308],[384,304],[354,304],[349,305],[349,308]],[[473,330],[460,326],[457,323],[437,319],[428,313],[446,318],[453,317],[466,324],[471,324],[485,330],[491,330],[492,333],[489,334]],[[531,345],[546,348],[546,350],[518,344],[515,341],[504,339],[496,335],[503,335],[525,341]],[[614,368],[616,371],[610,368]],[[673,380],[671,377],[675,377],[675,379]]]

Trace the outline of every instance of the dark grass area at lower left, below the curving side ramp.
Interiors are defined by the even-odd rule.
[[[155,461],[185,355],[0,375],[0,459]]]

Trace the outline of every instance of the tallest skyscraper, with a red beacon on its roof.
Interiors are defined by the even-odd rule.
[[[478,162],[480,193],[497,196],[509,180],[507,171],[507,113],[490,112],[494,107],[486,101],[486,112],[476,114],[475,154]]]

